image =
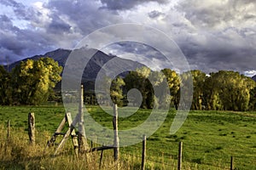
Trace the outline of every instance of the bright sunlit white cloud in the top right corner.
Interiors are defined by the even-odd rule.
[[[256,5],[251,0],[234,0],[211,3],[201,0],[183,1],[179,10],[185,13],[194,26],[214,27],[231,22],[240,24],[247,20],[255,20]]]

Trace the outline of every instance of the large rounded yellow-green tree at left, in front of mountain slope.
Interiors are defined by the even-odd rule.
[[[41,105],[61,81],[62,67],[54,59],[41,58],[21,61],[11,72],[13,99],[20,105]]]

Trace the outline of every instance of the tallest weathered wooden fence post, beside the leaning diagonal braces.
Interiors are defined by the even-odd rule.
[[[79,93],[79,153],[84,153],[88,150],[89,146],[87,144],[87,140],[85,138],[85,130],[84,130],[84,86],[81,85],[80,93]]]

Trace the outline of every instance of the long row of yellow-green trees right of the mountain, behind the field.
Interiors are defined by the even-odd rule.
[[[160,74],[160,72],[164,73]],[[119,86],[112,86],[112,98],[115,103],[124,105],[125,93],[131,88],[137,88],[142,96],[142,108],[153,108],[156,103],[159,107],[170,103],[176,109],[179,105],[180,88],[188,79],[189,74],[193,78],[193,99],[191,110],[215,110],[215,111],[255,111],[256,110],[256,82],[252,78],[241,75],[236,71],[218,71],[207,75],[203,71],[187,71],[177,74],[171,69],[151,71],[147,67],[130,71],[124,77]],[[166,78],[170,95],[157,99],[154,95],[154,87],[161,87]],[[120,77],[118,77],[120,79]],[[153,80],[149,82],[148,80]],[[122,88],[119,88],[122,86]],[[122,90],[121,90],[122,89]],[[115,95],[113,92],[119,92]],[[124,93],[125,92],[125,93]],[[122,95],[121,95],[121,94]],[[158,100],[158,102],[154,102]]]

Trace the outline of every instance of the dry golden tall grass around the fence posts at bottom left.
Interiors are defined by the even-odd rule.
[[[122,153],[118,162],[113,161],[113,150],[104,150],[102,164],[100,165],[101,152],[91,152],[76,156],[73,144],[68,140],[59,155],[54,156],[55,147],[46,147],[47,140],[51,137],[49,132],[37,132],[36,144],[30,144],[26,129],[11,127],[9,139],[7,127],[0,125],[0,169],[141,169],[141,159],[136,155]],[[101,166],[101,167],[100,167]],[[153,161],[148,161],[147,169],[159,169]]]

